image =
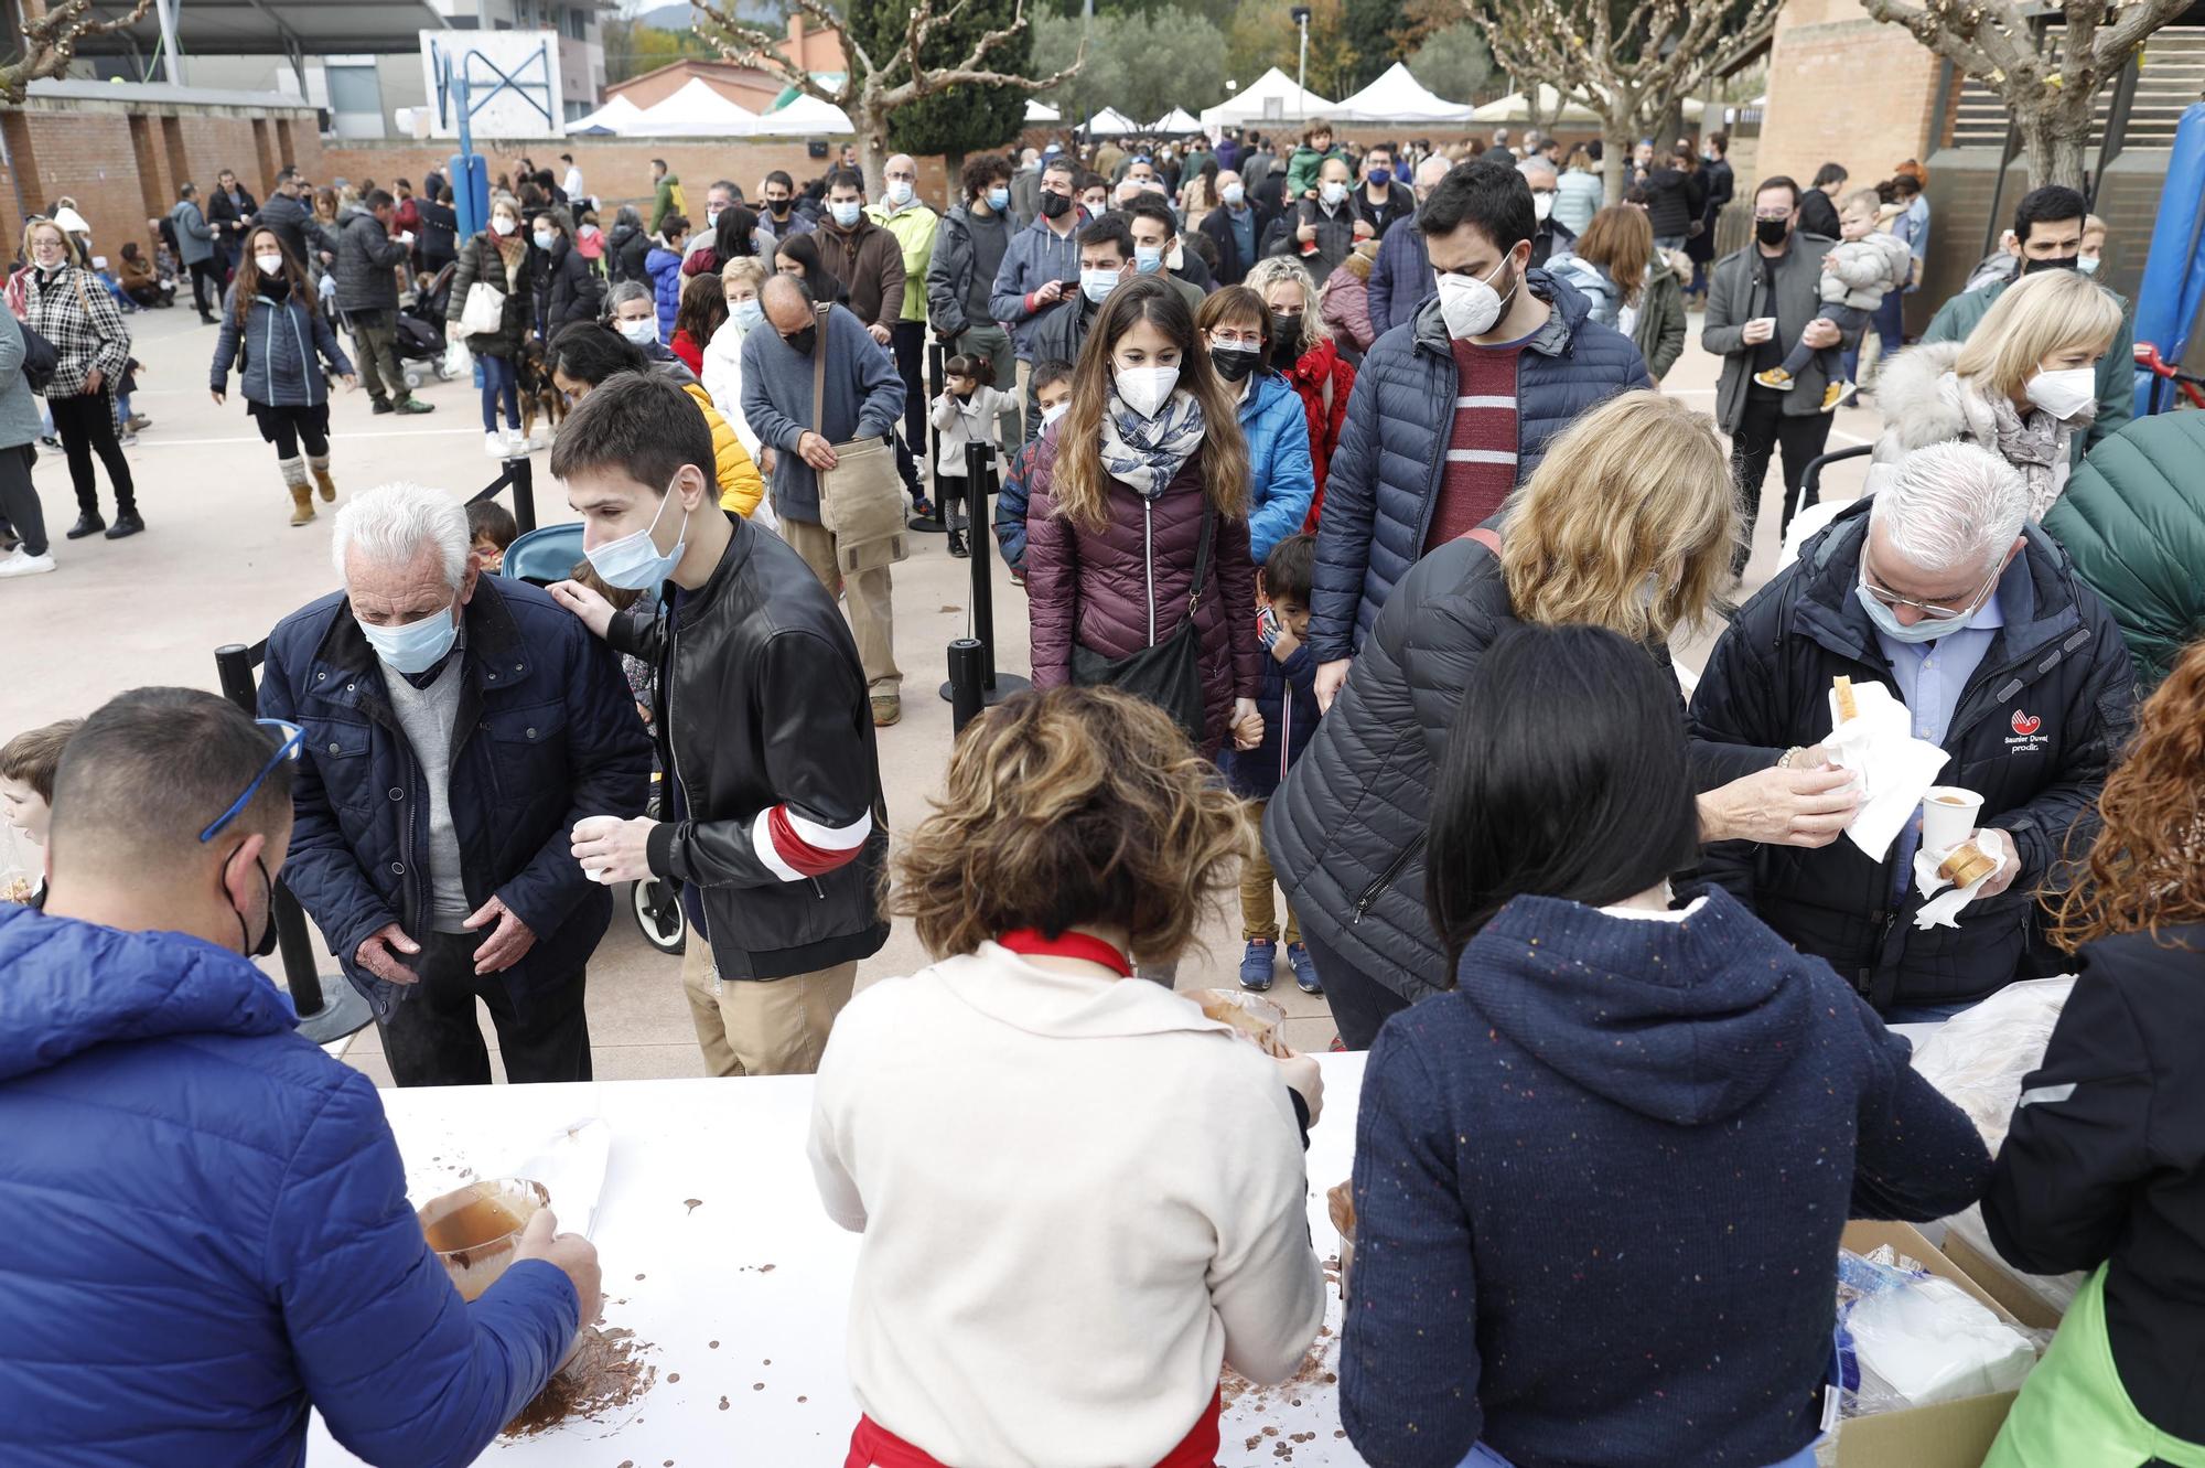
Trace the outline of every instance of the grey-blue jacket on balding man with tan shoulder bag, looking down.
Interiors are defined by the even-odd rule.
[[[827,414],[818,428],[827,443],[880,439],[895,428],[904,417],[904,379],[856,315],[829,306],[811,350],[827,353]],[[796,454],[796,441],[811,432],[811,357],[778,331],[743,337],[743,419],[774,450],[774,514],[818,525],[818,474]]]

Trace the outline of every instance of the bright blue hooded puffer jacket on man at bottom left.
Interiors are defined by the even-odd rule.
[[[580,1320],[551,1263],[467,1305],[375,1087],[247,959],[0,904],[0,1464],[472,1464]]]

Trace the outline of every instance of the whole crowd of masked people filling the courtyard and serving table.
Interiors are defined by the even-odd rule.
[[[0,1166],[0,1228],[84,1219],[0,1342],[0,1444],[143,1424],[282,1461],[311,1400],[375,1461],[470,1461],[595,1314],[595,1256],[547,1217],[478,1303],[434,1278],[370,1087],[251,963],[280,877],[397,1084],[490,1082],[481,1012],[507,1080],[587,1080],[609,888],[679,890],[706,1069],[818,1076],[820,1199],[864,1234],[851,1464],[1211,1464],[1219,1369],[1299,1369],[1323,1071],[1171,992],[1235,890],[1239,985],[1283,959],[1369,1051],[1338,1364],[1365,1461],[1804,1468],[1846,1219],[1978,1201],[2018,1267],[2093,1272],[1993,1461],[2205,1455],[2179,1367],[2205,1340],[2205,414],[2128,421],[2084,196],[2033,190],[2011,271],[1881,337],[1865,492],[1804,507],[1861,337],[1918,287],[1921,179],[1757,179],[1713,258],[1720,134],[1645,143],[1618,205],[1557,139],[1453,152],[1325,123],[1050,148],[970,159],[946,212],[913,159],[875,198],[845,156],[759,207],[714,181],[701,216],[653,163],[648,220],[593,249],[580,176],[516,161],[445,320],[490,452],[527,384],[558,395],[584,562],[538,586],[496,507],[353,494],[258,719],[137,690],[0,747],[46,853],[0,908],[0,1126],[49,1140]],[[353,359],[298,212],[229,231],[214,388],[240,353],[304,522]],[[373,384],[381,306],[344,262],[395,282],[419,236],[379,190],[340,229]],[[77,267],[33,236],[44,322]],[[1702,293],[1713,414],[1658,390]],[[86,348],[49,390],[86,454],[121,366]],[[979,507],[975,445],[981,525],[937,514]],[[1733,606],[1777,452],[1793,533]],[[2176,505],[2187,544],[2154,531]],[[891,566],[928,529],[997,536],[1034,692],[891,827]],[[1892,769],[1854,721],[1883,705],[1976,798],[1960,842],[1912,811],[1863,835]],[[935,961],[853,996],[900,919]],[[1993,1159],[1890,1025],[2046,974],[2079,979]],[[1100,1181],[1034,1188],[1065,1157]],[[146,1177],[190,1248],[95,1248],[141,1228]],[[101,1371],[163,1367],[159,1393],[55,1369],[117,1300]]]

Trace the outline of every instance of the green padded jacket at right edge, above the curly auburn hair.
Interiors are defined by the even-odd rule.
[[[2139,419],[2090,450],[2046,511],[2137,659],[2137,697],[2205,635],[2205,412]]]

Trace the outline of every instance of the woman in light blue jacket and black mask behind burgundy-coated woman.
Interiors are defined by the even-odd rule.
[[[1239,392],[1241,436],[1248,439],[1248,542],[1255,564],[1301,529],[1316,498],[1310,461],[1310,417],[1301,395],[1270,361],[1270,311],[1248,287],[1226,287],[1202,302],[1195,331],[1211,366]]]

